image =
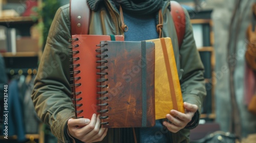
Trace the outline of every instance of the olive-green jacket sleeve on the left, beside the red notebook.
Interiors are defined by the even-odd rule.
[[[74,115],[69,96],[69,38],[69,6],[66,5],[57,10],[53,19],[32,91],[38,116],[61,142],[67,141],[67,121]]]

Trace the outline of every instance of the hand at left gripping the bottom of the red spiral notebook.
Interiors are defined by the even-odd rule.
[[[83,142],[101,141],[107,131],[107,128],[100,128],[100,118],[96,114],[93,114],[91,121],[88,118],[70,118],[68,121],[69,134]]]

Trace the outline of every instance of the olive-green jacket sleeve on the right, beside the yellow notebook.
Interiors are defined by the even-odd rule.
[[[204,66],[196,47],[189,15],[185,9],[184,11],[186,15],[186,27],[180,48],[180,67],[183,69],[180,83],[184,102],[198,106],[198,111],[194,115],[191,123],[188,123],[186,127],[186,129],[193,129],[199,124],[201,105],[206,96],[206,89],[203,77]]]

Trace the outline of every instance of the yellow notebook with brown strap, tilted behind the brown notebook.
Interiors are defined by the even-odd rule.
[[[184,113],[180,81],[169,37],[147,41],[155,43],[155,112],[156,120],[165,118],[170,110]]]

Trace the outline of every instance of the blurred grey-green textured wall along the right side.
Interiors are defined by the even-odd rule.
[[[229,25],[237,1],[235,0],[218,0],[210,1],[214,7],[212,12],[212,20],[214,22],[215,34],[215,56],[216,56],[216,82],[215,82],[215,104],[216,104],[216,122],[220,123],[221,129],[229,131],[231,120],[231,101],[229,90],[229,70],[227,58],[227,45],[229,37]],[[240,111],[242,137],[248,134],[256,133],[256,116],[252,115],[247,110],[247,105],[244,104],[244,71],[246,51],[246,29],[250,22],[251,6],[255,3],[253,0],[242,0],[237,16],[232,23],[232,31],[239,28],[238,23],[241,22],[241,28],[238,29],[238,40],[234,40],[234,34],[231,36],[231,47],[236,46],[236,53],[233,53],[234,58],[234,86],[236,89],[237,102]],[[240,17],[240,19],[239,19]]]

